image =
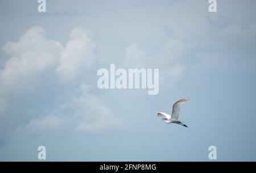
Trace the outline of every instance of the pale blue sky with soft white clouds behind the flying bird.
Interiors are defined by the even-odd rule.
[[[256,161],[256,2],[0,1],[0,161]],[[159,69],[159,92],[97,71]],[[156,116],[189,97],[180,119]]]

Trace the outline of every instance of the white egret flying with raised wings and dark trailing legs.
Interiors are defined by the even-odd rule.
[[[181,104],[188,102],[189,98],[180,99],[177,102],[174,103],[172,106],[172,115],[169,115],[164,112],[158,112],[158,117],[163,117],[162,120],[166,121],[167,124],[175,123],[179,124],[185,127],[188,127],[187,125],[183,124],[179,119],[180,114],[180,107]]]

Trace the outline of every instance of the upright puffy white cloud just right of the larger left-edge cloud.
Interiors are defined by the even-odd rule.
[[[56,69],[64,79],[73,79],[81,70],[92,69],[96,63],[96,46],[88,31],[74,28],[70,37]]]

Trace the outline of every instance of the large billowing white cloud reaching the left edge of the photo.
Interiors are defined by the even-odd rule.
[[[32,27],[17,42],[8,42],[3,50],[10,55],[0,70],[0,81],[15,86],[25,78],[54,66],[63,49],[58,41],[47,40],[42,27]],[[24,81],[23,81],[24,82]]]

